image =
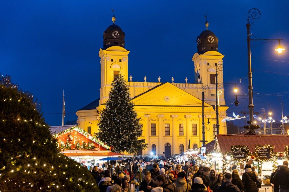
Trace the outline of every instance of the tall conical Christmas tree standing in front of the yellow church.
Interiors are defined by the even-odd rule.
[[[147,147],[144,139],[138,139],[142,135],[139,120],[130,99],[129,87],[120,73],[112,82],[109,98],[101,111],[99,132],[95,136],[111,146],[112,151],[136,154]]]

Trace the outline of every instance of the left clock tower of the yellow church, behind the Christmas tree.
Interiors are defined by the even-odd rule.
[[[99,50],[101,65],[100,100],[103,104],[108,100],[108,94],[112,88],[112,81],[118,73],[122,73],[128,79],[128,54],[125,49],[125,32],[114,24],[116,18],[112,17],[113,24],[103,32],[103,49]]]

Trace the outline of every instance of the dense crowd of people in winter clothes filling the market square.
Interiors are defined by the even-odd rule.
[[[289,192],[289,168],[286,162],[272,174],[274,192],[279,191],[279,186],[280,192]],[[106,162],[90,168],[101,192],[127,192],[129,184],[133,184],[136,191],[140,192],[258,192],[258,188],[261,188],[260,179],[250,164],[244,167],[242,179],[236,169],[223,174],[210,167],[197,165],[194,160],[131,159],[117,163],[112,169]]]

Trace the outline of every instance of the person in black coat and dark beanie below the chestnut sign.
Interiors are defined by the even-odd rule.
[[[250,164],[245,165],[244,169],[245,172],[243,173],[242,176],[242,182],[244,184],[246,192],[258,192],[256,185],[257,177],[255,172],[252,171],[251,165]]]

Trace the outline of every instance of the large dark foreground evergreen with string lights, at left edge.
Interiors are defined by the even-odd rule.
[[[0,74],[0,190],[99,191],[90,172],[60,154],[33,96]]]

